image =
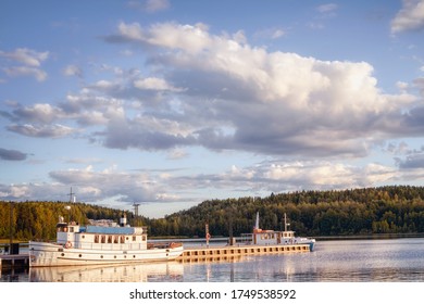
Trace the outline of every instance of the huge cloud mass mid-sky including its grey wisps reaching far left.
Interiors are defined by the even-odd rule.
[[[204,24],[122,22],[105,40],[140,47],[151,75],[121,68],[57,106],[17,106],[9,129],[54,136],[59,119],[70,119],[102,127],[92,136],[114,149],[301,156],[363,156],[385,138],[424,130],[416,98],[383,92],[366,62],[270,52],[240,31],[212,35]]]

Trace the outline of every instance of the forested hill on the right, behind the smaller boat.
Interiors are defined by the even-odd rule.
[[[157,235],[213,236],[290,228],[305,236],[424,232],[424,187],[392,186],[342,191],[298,191],[267,198],[210,200],[151,223]]]

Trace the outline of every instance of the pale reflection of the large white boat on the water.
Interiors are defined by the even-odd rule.
[[[179,263],[141,263],[130,265],[88,265],[29,268],[32,282],[148,282],[179,281],[184,266]]]

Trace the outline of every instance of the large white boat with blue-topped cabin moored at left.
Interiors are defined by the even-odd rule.
[[[172,261],[183,253],[182,243],[148,243],[146,227],[109,221],[80,226],[57,225],[55,242],[29,242],[29,266],[74,266]]]

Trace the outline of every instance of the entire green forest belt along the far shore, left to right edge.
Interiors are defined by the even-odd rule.
[[[71,211],[65,206],[71,205]],[[11,213],[11,206],[13,212]],[[147,226],[150,237],[204,237],[209,224],[212,237],[250,232],[255,214],[263,229],[282,230],[284,214],[290,228],[301,236],[359,236],[372,233],[424,232],[424,187],[297,191],[266,198],[208,200],[163,218],[135,218],[129,224]],[[86,203],[0,202],[0,239],[9,239],[12,215],[13,238],[51,240],[59,216],[87,224],[88,219],[119,221],[123,211]]]

